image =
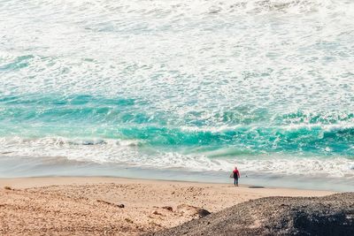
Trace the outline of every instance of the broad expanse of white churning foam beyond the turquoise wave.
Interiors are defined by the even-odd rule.
[[[353,105],[352,1],[0,3],[0,67],[23,66],[0,70],[2,94],[119,94],[175,114]]]

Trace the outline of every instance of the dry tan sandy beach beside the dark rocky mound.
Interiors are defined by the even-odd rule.
[[[333,193],[104,177],[0,179],[0,235],[139,235],[207,213],[201,209],[216,212],[266,196]]]

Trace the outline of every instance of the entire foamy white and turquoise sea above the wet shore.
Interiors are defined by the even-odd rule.
[[[350,1],[0,5],[0,156],[354,178]]]

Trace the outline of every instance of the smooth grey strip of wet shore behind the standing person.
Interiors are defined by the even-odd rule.
[[[350,179],[328,176],[281,175],[241,171],[241,184],[264,187],[285,187],[335,192],[354,191]],[[161,179],[203,183],[230,183],[228,171],[189,171],[180,169],[154,169],[114,163],[96,164],[50,158],[9,158],[0,156],[1,178],[27,177],[114,177],[133,179]]]

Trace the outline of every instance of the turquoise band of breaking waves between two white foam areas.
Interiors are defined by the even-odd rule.
[[[230,148],[227,156],[290,153],[354,156],[354,113],[271,114],[266,108],[235,107],[208,114],[155,110],[142,99],[92,95],[4,96],[1,135],[137,141],[140,147]],[[344,123],[345,125],[342,125]],[[83,143],[85,144],[85,143]],[[92,143],[95,144],[95,143]],[[223,156],[223,155],[220,155]]]

